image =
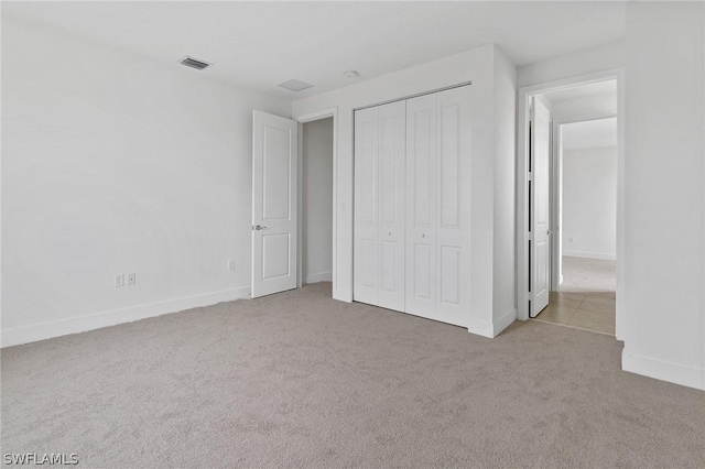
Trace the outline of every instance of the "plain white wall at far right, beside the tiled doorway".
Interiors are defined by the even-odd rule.
[[[627,3],[625,370],[705,390],[705,4]]]

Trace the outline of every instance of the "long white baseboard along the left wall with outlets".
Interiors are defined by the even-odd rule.
[[[113,309],[88,316],[72,317],[51,323],[34,324],[31,326],[13,327],[2,330],[1,347],[19,346],[21,343],[35,342],[37,340],[51,339],[69,334],[85,332],[87,330],[99,329],[101,327],[132,323],[148,317],[177,313],[184,309],[247,298],[249,293],[250,287],[242,286],[240,288],[224,290],[221,292],[169,299],[165,302],[132,306],[122,309]]]

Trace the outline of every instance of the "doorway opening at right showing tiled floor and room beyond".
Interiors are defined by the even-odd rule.
[[[616,92],[611,94],[612,88],[616,91],[616,84],[605,81],[599,87],[606,88],[608,96],[596,94],[589,97],[593,101],[606,101],[605,109],[596,116],[610,113],[616,108]],[[557,184],[553,187],[557,190],[552,197],[556,219],[552,250],[555,262],[552,265],[556,268],[557,275],[552,275],[550,304],[535,319],[614,335],[617,118],[561,123],[561,105],[575,106],[571,101],[552,101],[556,118],[554,127],[557,129],[554,133],[557,137],[554,145],[557,155],[553,159],[557,163],[553,172]],[[614,107],[610,101],[614,101]]]

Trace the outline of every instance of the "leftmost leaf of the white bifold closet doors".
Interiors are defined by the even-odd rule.
[[[379,109],[355,112],[352,299],[376,305],[379,272]]]

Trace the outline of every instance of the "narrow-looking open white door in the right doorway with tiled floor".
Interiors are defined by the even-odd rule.
[[[551,113],[536,97],[532,98],[529,157],[529,314],[536,317],[549,305],[551,281]]]

